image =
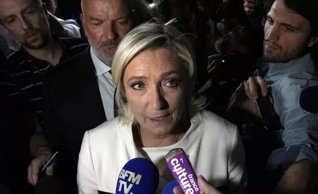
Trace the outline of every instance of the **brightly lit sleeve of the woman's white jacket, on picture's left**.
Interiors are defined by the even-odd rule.
[[[77,182],[79,194],[98,194],[89,131],[85,132],[80,148]]]

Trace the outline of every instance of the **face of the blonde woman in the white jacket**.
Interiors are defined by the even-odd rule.
[[[127,65],[124,89],[143,129],[164,136],[178,124],[187,98],[185,75],[180,60],[164,48],[143,51]]]

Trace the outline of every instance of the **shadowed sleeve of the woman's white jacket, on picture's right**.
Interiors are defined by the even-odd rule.
[[[229,156],[229,183],[230,194],[245,194],[247,174],[245,171],[245,153],[240,140],[238,127],[235,127],[232,148]]]

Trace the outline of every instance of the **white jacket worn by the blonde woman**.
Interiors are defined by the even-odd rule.
[[[130,159],[144,155],[159,169],[156,194],[160,194],[174,180],[164,156],[177,147],[189,155],[196,174],[203,175],[214,187],[226,186],[228,194],[245,193],[245,155],[238,128],[212,112],[201,110],[192,117],[185,136],[170,146],[140,151],[134,144],[131,125],[120,124],[118,117],[86,131],[78,163],[79,194],[98,194],[98,191],[115,194],[121,168]]]

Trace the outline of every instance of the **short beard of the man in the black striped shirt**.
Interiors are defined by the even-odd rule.
[[[28,37],[32,34],[38,33],[40,35],[39,39],[36,39],[35,41],[28,41]],[[24,42],[20,43],[22,47],[25,48],[31,48],[31,49],[40,49],[48,45],[49,40],[49,33],[43,34],[40,32],[40,30],[32,30],[29,32],[26,32],[23,35]]]

